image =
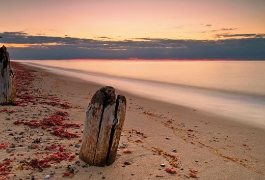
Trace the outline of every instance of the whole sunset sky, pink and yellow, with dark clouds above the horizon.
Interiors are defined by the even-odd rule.
[[[265,59],[264,0],[0,0],[13,59]]]

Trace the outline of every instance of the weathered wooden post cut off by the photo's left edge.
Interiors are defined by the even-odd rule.
[[[16,101],[15,78],[10,67],[10,57],[5,46],[0,47],[0,104],[8,105]]]

